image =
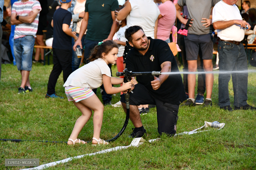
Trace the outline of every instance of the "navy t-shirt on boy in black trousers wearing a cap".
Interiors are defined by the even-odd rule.
[[[72,38],[63,30],[62,25],[70,25],[72,14],[66,9],[59,8],[53,15],[53,48],[72,49]]]

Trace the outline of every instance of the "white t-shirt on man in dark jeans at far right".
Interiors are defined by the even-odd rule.
[[[236,5],[228,5],[223,1],[218,2],[212,11],[212,23],[216,21],[242,20]],[[222,40],[240,42],[245,37],[245,31],[240,25],[234,24],[225,29],[218,29],[217,36]]]

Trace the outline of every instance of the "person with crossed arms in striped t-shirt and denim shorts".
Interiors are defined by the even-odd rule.
[[[32,52],[41,9],[37,0],[19,0],[12,5],[11,25],[16,25],[13,49],[17,68],[21,73],[18,93],[32,92],[29,73],[32,69]]]

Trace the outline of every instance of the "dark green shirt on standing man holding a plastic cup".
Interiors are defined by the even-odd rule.
[[[102,41],[108,38],[113,24],[111,11],[119,7],[117,0],[87,0],[85,12],[89,12],[85,39]]]

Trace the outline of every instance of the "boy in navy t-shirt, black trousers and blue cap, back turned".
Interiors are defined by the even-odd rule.
[[[45,98],[64,98],[55,93],[55,85],[63,71],[63,81],[66,82],[72,73],[72,43],[78,37],[69,28],[72,14],[67,9],[71,7],[71,0],[60,0],[61,7],[54,12],[51,25],[53,26],[53,70],[49,76],[47,94]]]

